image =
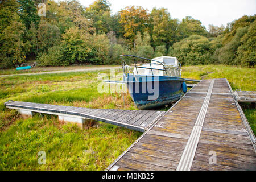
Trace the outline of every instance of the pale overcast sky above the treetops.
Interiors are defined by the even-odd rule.
[[[93,0],[78,0],[88,7]],[[200,20],[206,28],[209,24],[220,26],[241,18],[243,15],[256,14],[256,0],[109,0],[112,13],[117,13],[126,6],[142,6],[149,11],[153,7],[167,8],[172,18],[183,19],[185,16]]]

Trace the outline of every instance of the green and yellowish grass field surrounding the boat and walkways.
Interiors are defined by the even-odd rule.
[[[256,90],[256,71],[226,65],[182,67],[185,78],[227,78],[233,90]],[[0,170],[103,170],[142,133],[96,122],[81,130],[53,115],[23,119],[8,100],[102,109],[124,109],[122,94],[97,92],[98,72],[11,76],[0,80]],[[100,71],[110,75],[110,71]],[[121,72],[119,70],[118,72]],[[129,95],[125,109],[136,109]],[[255,105],[242,105],[255,133]],[[38,152],[46,164],[38,164]]]

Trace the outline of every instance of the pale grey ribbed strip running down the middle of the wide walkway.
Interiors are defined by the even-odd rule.
[[[212,94],[213,84],[214,84],[214,79],[212,80],[212,82],[210,82],[207,95],[205,96],[204,103],[201,107],[199,115],[197,116],[195,126],[192,129],[187,145],[185,146],[183,154],[181,155],[179,165],[176,168],[177,171],[189,171],[191,169],[193,159],[196,154],[196,148],[199,142],[201,130],[203,128],[204,118],[207,113],[208,105],[210,102],[210,96]]]

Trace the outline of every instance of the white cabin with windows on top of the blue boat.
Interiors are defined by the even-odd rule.
[[[135,75],[155,75],[181,77],[180,63],[177,57],[161,56],[155,57],[150,63],[135,66]]]

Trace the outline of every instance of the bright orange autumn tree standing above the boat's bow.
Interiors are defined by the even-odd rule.
[[[124,36],[129,39],[130,43],[134,43],[137,32],[147,30],[148,13],[141,6],[126,7],[120,11],[120,23],[124,28]]]

